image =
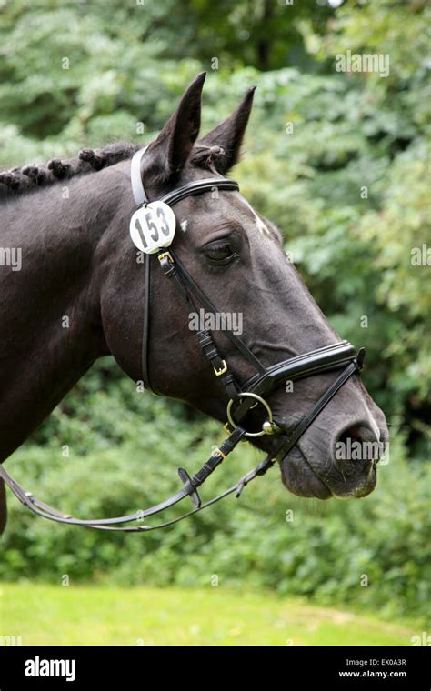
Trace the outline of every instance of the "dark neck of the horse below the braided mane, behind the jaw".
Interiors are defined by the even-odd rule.
[[[20,253],[21,267],[0,265],[0,461],[106,354],[95,270],[115,215],[106,179],[88,175],[2,209],[0,247]]]

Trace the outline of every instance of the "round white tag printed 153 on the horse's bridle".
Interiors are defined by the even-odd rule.
[[[134,245],[147,255],[154,255],[160,247],[171,245],[176,219],[164,202],[150,202],[135,211],[130,221],[130,236]]]

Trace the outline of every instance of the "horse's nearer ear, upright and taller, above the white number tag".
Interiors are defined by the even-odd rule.
[[[164,181],[177,175],[185,165],[201,126],[201,96],[206,73],[197,75],[187,87],[180,104],[160,135],[148,148],[153,168]]]

